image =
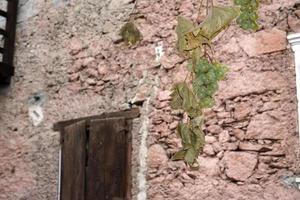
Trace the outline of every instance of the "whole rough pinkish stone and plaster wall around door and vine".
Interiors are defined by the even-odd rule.
[[[299,199],[298,190],[283,184],[300,173],[293,54],[284,38],[297,1],[270,2],[262,1],[259,33],[233,26],[215,42],[216,57],[230,72],[216,106],[206,111],[207,145],[200,169],[191,171],[169,160],[180,147],[174,129],[181,117],[168,101],[172,83],[187,73],[175,49],[176,16],[195,19],[198,2],[138,1],[143,41],[128,48],[117,32],[132,11],[130,0],[21,0],[16,76],[0,96],[0,199],[56,199],[53,123],[126,109],[129,102],[143,102],[133,131],[134,198]],[[252,45],[270,32],[277,45]],[[161,42],[165,54],[157,63],[154,48]],[[34,127],[28,99],[39,91],[46,95],[45,118]]]

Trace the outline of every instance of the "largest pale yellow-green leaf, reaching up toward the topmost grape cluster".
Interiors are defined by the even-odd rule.
[[[238,15],[240,9],[237,6],[212,6],[208,15],[200,26],[193,30],[193,34],[202,35],[212,40],[224,30]]]

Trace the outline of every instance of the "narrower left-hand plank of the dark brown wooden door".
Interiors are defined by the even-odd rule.
[[[86,123],[64,128],[62,141],[61,200],[84,200],[86,163]]]

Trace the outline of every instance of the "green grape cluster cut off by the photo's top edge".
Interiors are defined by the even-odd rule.
[[[257,24],[258,20],[258,0],[234,0],[234,3],[241,7],[241,14],[237,19],[237,23],[241,28],[248,30],[257,30],[259,28]]]

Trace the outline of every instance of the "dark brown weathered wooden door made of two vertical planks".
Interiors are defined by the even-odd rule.
[[[61,130],[61,200],[131,199],[131,123],[89,119]]]

